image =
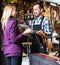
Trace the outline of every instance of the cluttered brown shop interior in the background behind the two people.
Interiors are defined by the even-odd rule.
[[[49,50],[49,55],[54,58],[60,58],[60,5],[58,3],[53,2],[47,2],[47,1],[40,1],[40,0],[3,0],[1,1],[1,12],[3,11],[3,8],[8,3],[14,3],[17,7],[17,22],[18,26],[21,28],[21,32],[29,27],[30,21],[34,19],[34,15],[32,14],[32,4],[34,2],[41,2],[44,5],[45,11],[43,12],[43,15],[51,20],[51,24],[53,27],[52,36],[50,37],[50,41],[52,42],[52,48]],[[1,14],[2,15],[2,14]],[[1,18],[1,16],[0,16]],[[24,23],[21,24],[21,23]],[[58,24],[59,22],[59,24]],[[0,22],[1,23],[1,22]],[[1,28],[1,24],[0,24]],[[1,30],[1,29],[0,29]],[[1,39],[1,31],[0,31],[0,52],[1,57],[3,54],[3,48],[2,48],[2,39]],[[27,57],[30,53],[29,46],[31,42],[29,39],[27,39],[26,42],[22,42],[22,44],[25,46],[26,50],[23,50],[23,57]],[[27,47],[28,46],[28,47]],[[3,63],[3,61],[1,61]]]

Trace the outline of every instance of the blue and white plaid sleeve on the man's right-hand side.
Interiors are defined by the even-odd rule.
[[[45,34],[47,35],[51,35],[52,34],[52,25],[51,25],[51,21],[48,19],[44,19],[42,22],[42,30],[45,32]]]

